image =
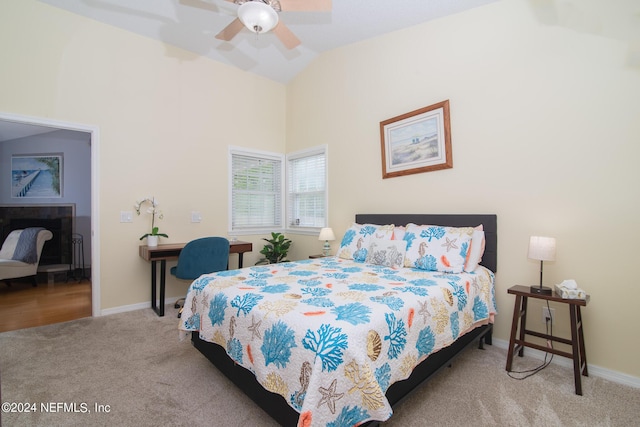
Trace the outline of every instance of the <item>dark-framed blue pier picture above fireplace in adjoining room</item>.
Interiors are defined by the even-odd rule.
[[[11,156],[11,197],[62,197],[62,154]]]

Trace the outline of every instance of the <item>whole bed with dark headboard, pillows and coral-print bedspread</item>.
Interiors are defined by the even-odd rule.
[[[281,425],[375,425],[470,344],[491,344],[496,222],[356,215],[337,256],[195,280],[180,329]],[[482,259],[465,271],[478,228]]]

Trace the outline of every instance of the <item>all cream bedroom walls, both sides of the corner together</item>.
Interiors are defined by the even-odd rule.
[[[3,1],[0,111],[100,129],[102,309],[149,300],[149,266],[137,257],[148,217],[119,222],[136,199],[160,200],[169,241],[225,235],[229,144],[328,144],[338,238],[358,212],[496,213],[496,336],[507,339],[507,288],[538,280],[528,238],[555,236],[545,278],[574,278],[591,294],[590,364],[640,377],[640,68],[629,40],[607,32],[631,17],[609,8],[598,15],[607,25],[566,14],[545,24],[528,5],[502,1],[328,52],[285,87],[33,0]],[[444,99],[454,168],[383,180],[379,122]],[[261,237],[247,237],[247,264]],[[291,259],[320,250],[313,237],[290,237]],[[185,290],[169,279],[168,296]]]

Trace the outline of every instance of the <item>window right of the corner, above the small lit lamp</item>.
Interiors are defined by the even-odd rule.
[[[326,146],[287,155],[287,228],[317,232],[326,224]]]

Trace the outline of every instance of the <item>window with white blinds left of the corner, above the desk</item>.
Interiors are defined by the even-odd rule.
[[[229,161],[229,230],[255,233],[282,229],[283,156],[230,147]]]

